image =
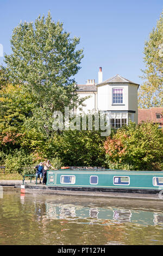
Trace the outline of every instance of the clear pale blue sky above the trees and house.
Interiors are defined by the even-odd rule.
[[[71,38],[80,37],[84,58],[74,77],[78,84],[88,79],[97,83],[100,66],[103,81],[119,74],[141,84],[145,40],[162,9],[162,0],[0,0],[0,44],[10,54],[14,27],[51,11],[53,21],[63,22]]]

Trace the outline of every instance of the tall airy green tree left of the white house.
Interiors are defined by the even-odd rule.
[[[21,22],[11,37],[12,53],[4,56],[10,82],[20,84],[39,108],[51,113],[79,105],[82,100],[74,93],[74,75],[83,58],[83,50],[76,49],[79,42],[62,23],[52,21],[50,12],[35,22]]]

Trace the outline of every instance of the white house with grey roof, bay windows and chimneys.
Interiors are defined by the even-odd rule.
[[[139,84],[131,82],[120,75],[103,81],[102,68],[98,72],[98,84],[95,80],[87,80],[86,84],[78,84],[79,97],[90,96],[85,100],[83,112],[102,111],[108,113],[112,127],[128,124],[129,119],[137,123],[137,89]],[[79,114],[79,109],[74,109]]]

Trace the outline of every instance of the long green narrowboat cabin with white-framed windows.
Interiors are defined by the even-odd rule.
[[[163,190],[163,172],[70,167],[48,170],[46,186],[53,190],[158,193]]]

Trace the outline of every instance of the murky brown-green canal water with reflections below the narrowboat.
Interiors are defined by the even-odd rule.
[[[162,201],[3,188],[0,245],[162,245]]]

